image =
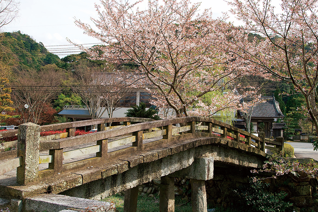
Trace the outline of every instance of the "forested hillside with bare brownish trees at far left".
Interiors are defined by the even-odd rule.
[[[1,86],[12,90],[8,90],[12,102],[7,105],[15,109],[7,110],[7,114],[15,118],[1,119],[3,125],[29,121],[43,125],[63,121],[58,120],[56,113],[64,105],[83,104],[71,88],[76,84],[76,70],[109,71],[105,62],[91,61],[84,52],[61,60],[43,43],[20,31],[3,32],[0,38],[1,77],[9,79]]]

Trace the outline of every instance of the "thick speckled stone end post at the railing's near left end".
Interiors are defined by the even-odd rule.
[[[25,185],[38,178],[40,126],[31,122],[19,125],[17,156],[22,166],[17,167],[17,183]]]

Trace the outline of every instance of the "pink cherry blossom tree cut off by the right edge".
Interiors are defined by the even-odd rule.
[[[293,84],[304,96],[306,107],[318,129],[318,17],[317,0],[282,0],[280,8],[271,0],[232,0],[232,13],[245,23],[227,24],[220,48],[233,55],[234,63],[265,78]],[[262,39],[251,39],[257,34]],[[318,142],[314,143],[315,148]]]

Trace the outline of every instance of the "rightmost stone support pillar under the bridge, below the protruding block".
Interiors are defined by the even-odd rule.
[[[191,179],[192,212],[207,212],[205,181]]]

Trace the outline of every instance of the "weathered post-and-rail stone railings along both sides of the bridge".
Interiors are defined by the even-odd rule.
[[[144,122],[147,121],[147,122]],[[107,127],[111,122],[123,122],[123,125]],[[130,125],[131,122],[143,122]],[[75,127],[96,125],[98,132],[74,136]],[[176,127],[181,125],[182,127]],[[40,132],[66,129],[66,133],[40,137]],[[74,168],[86,168],[93,164],[113,160],[124,154],[163,147],[179,140],[194,137],[223,137],[245,143],[245,151],[265,152],[265,149],[280,151],[283,139],[276,141],[265,139],[264,133],[257,137],[223,122],[205,117],[182,117],[167,120],[149,121],[138,118],[111,118],[77,121],[47,126],[26,123],[19,130],[1,132],[0,138],[18,136],[17,141],[5,142],[0,148],[0,174],[17,168],[17,183],[27,184],[38,178],[70,171]],[[96,141],[96,145],[65,151],[65,148]],[[132,143],[128,146],[127,144]],[[125,145],[125,146],[124,146]],[[17,146],[17,150],[3,151]],[[237,146],[239,148],[239,145]],[[258,150],[256,150],[258,149]],[[64,151],[63,151],[64,150]],[[48,155],[39,152],[48,151]],[[63,164],[64,160],[87,154],[93,157]],[[14,156],[14,158],[12,158]],[[6,159],[3,159],[5,158]],[[11,157],[11,159],[10,159]],[[9,159],[8,159],[9,158]],[[48,169],[38,171],[39,163],[48,163]]]

